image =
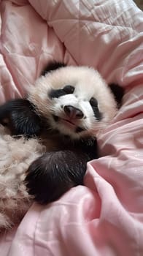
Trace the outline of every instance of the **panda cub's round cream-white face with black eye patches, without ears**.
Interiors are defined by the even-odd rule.
[[[116,113],[107,84],[89,67],[61,67],[47,73],[28,98],[52,129],[71,139],[96,136]]]

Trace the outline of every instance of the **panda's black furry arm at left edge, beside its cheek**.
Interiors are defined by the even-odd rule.
[[[27,138],[39,135],[42,129],[41,120],[27,99],[13,99],[1,105],[0,124],[7,126],[12,135]]]

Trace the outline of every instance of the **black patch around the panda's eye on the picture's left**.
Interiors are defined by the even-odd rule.
[[[50,99],[54,99],[54,98],[59,98],[61,96],[64,96],[66,94],[73,94],[74,92],[74,86],[64,86],[62,89],[57,89],[57,90],[54,90],[52,89],[50,92],[49,92],[49,97]]]

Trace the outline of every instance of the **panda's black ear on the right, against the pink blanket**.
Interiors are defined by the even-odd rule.
[[[109,89],[112,91],[112,94],[115,97],[115,100],[117,102],[117,108],[120,108],[120,106],[122,105],[122,99],[124,95],[123,87],[119,86],[116,83],[110,83]]]

